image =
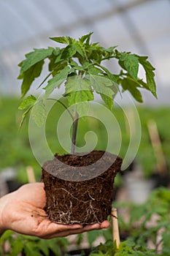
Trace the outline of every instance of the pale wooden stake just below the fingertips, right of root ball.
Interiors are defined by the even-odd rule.
[[[117,248],[120,246],[120,233],[119,233],[119,225],[117,220],[117,208],[112,208],[112,237],[113,241],[116,243]]]

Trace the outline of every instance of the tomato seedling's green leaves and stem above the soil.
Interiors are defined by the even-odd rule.
[[[64,84],[63,97],[68,100],[69,106],[74,105],[72,154],[74,154],[76,145],[79,116],[87,114],[89,102],[93,101],[95,92],[100,94],[110,110],[112,110],[113,99],[118,91],[130,91],[138,102],[142,102],[140,89],[147,89],[157,97],[154,80],[155,68],[146,56],[120,52],[116,47],[104,48],[97,42],[90,42],[91,34],[93,33],[86,34],[78,40],[71,37],[51,37],[50,39],[63,44],[64,47],[34,49],[26,54],[26,59],[19,64],[18,79],[23,80],[21,94],[25,97],[35,78],[41,75],[43,64],[47,64],[45,60],[49,60],[49,73],[38,86],[39,88],[44,85],[45,95],[41,99],[36,99],[33,95],[23,99],[19,107],[25,110],[21,124],[34,107],[34,121],[38,126],[42,126],[46,118],[45,100]],[[112,73],[103,64],[103,61],[111,59],[115,59],[120,67],[118,74]],[[144,68],[145,81],[138,76],[139,65]]]

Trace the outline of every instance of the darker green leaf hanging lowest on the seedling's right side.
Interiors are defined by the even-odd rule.
[[[143,102],[141,92],[136,88],[139,86],[135,80],[131,78],[124,78],[121,82],[123,90],[128,90],[131,92],[131,95],[136,99],[138,102]]]

